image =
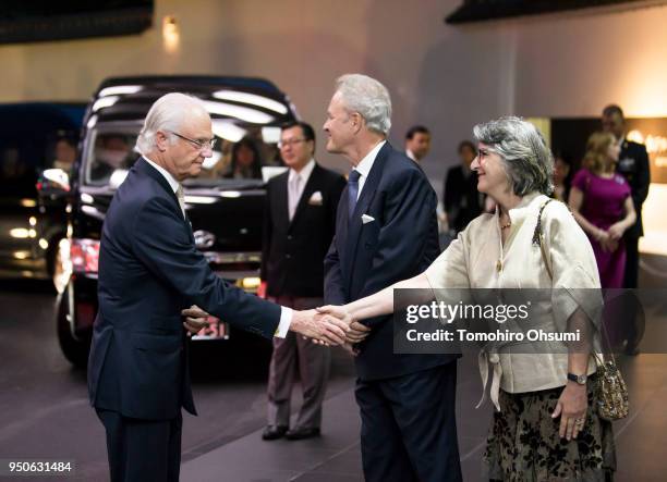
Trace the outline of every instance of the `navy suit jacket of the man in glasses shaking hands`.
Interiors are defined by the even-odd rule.
[[[198,305],[267,338],[280,321],[280,307],[228,285],[209,269],[169,183],[144,159],[105,219],[98,299],[90,403],[137,419],[171,419],[181,406],[195,413],[183,308]]]

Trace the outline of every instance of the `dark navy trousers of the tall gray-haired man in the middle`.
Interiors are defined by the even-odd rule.
[[[356,381],[366,482],[462,480],[457,362],[393,379]]]

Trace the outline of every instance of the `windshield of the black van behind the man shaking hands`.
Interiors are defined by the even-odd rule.
[[[141,123],[98,124],[89,133],[81,171],[88,186],[117,188],[140,158],[135,149]],[[276,131],[277,129],[277,131]],[[259,186],[276,171],[283,170],[277,141],[278,127],[245,129],[242,137],[216,137],[213,156],[204,161],[201,174],[186,180],[189,187]]]

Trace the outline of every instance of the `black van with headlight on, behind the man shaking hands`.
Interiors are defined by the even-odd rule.
[[[80,157],[71,178],[69,235],[62,269],[58,334],[65,357],[85,364],[97,312],[97,262],[105,213],[116,188],[138,158],[137,134],[160,96],[181,91],[201,98],[219,139],[202,174],[183,182],[197,248],[225,280],[248,292],[259,286],[265,181],[286,168],[277,143],[280,125],[296,113],[274,84],[259,78],[169,76],[106,81],[84,119]],[[252,168],[252,166],[255,168]],[[247,341],[211,319],[195,341]]]

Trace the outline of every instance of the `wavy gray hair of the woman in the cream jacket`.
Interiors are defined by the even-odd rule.
[[[554,156],[543,135],[521,118],[500,118],[475,125],[475,138],[502,159],[505,172],[517,196],[554,191]]]

